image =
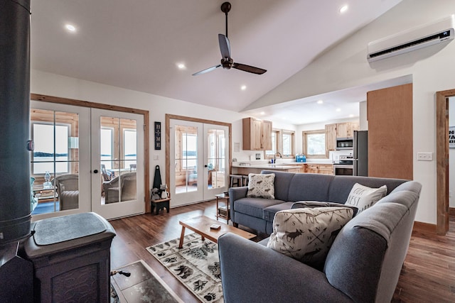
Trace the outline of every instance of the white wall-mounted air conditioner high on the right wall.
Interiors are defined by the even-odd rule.
[[[368,43],[368,62],[454,40],[455,15]]]

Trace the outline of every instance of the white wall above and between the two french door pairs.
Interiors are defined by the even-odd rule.
[[[60,75],[31,70],[31,93],[45,94],[49,96],[77,99],[90,101],[101,104],[112,104],[117,106],[127,106],[134,109],[143,109],[149,111],[150,126],[150,186],[153,184],[154,167],[159,165],[161,168],[161,179],[166,178],[166,150],[154,150],[154,121],[161,121],[161,126],[165,124],[165,115],[174,114],[180,116],[190,116],[199,119],[209,119],[232,123],[232,147],[235,142],[240,143],[240,152],[232,152],[232,158],[237,160],[248,160],[250,151],[242,150],[242,118],[244,114],[234,111],[215,109],[210,106],[203,106],[189,103],[186,101],[169,99],[166,97],[156,96],[136,92],[130,89],[112,87],[105,84],[88,82],[85,80],[64,77]],[[164,140],[164,132],[161,134]],[[232,148],[233,150],[233,148]],[[159,160],[153,160],[154,156]]]

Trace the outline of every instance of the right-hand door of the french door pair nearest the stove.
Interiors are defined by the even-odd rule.
[[[92,167],[101,172],[92,174],[92,207],[107,219],[144,212],[143,124],[141,115],[92,109]]]

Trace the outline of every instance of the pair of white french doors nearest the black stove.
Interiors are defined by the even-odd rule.
[[[144,212],[144,165],[137,165],[144,160],[143,125],[141,115],[32,100],[33,220],[87,211],[107,219]],[[111,182],[103,179],[102,167]]]

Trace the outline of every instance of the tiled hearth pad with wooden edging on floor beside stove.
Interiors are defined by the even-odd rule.
[[[143,260],[124,265],[117,270],[129,272],[131,275],[126,277],[117,273],[117,275],[112,276],[111,303],[183,303],[176,293]],[[113,285],[115,287],[112,287]]]

